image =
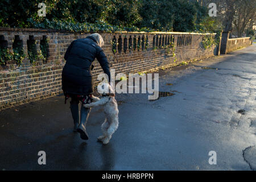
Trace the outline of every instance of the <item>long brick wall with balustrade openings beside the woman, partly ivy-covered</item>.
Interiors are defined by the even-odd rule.
[[[90,33],[75,33],[27,28],[0,28],[1,47],[11,51],[14,42],[21,42],[27,54],[27,43],[34,41],[36,51],[40,43],[48,39],[47,61],[36,60],[31,64],[27,57],[18,67],[9,61],[0,67],[0,110],[25,104],[62,93],[61,71],[65,64],[64,53],[72,40],[85,38]],[[192,61],[213,56],[215,46],[203,47],[202,39],[207,34],[180,32],[118,32],[101,33],[105,45],[102,47],[108,57],[110,68],[115,73],[138,73],[172,67],[182,61]],[[117,43],[116,46],[113,44]],[[175,57],[166,48],[175,45]],[[93,80],[102,72],[100,64],[94,61]]]

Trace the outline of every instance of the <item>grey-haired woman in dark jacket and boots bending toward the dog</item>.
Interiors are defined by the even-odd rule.
[[[81,107],[79,118],[79,101],[82,104],[92,101],[93,83],[91,70],[92,62],[97,58],[104,73],[110,79],[109,63],[102,50],[104,40],[100,34],[92,34],[85,39],[74,40],[64,59],[67,60],[62,71],[62,89],[65,100],[71,97],[70,109],[74,121],[74,131],[80,133],[81,139],[87,140],[85,125],[89,117],[90,109]]]

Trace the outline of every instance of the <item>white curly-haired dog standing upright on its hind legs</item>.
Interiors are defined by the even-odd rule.
[[[106,91],[107,90],[107,91]],[[110,91],[110,92],[109,92]],[[94,102],[90,104],[84,104],[86,108],[96,107],[99,105],[104,106],[105,121],[101,125],[101,130],[103,135],[98,137],[103,144],[109,143],[112,138],[113,133],[118,128],[118,108],[117,101],[114,98],[114,92],[109,84],[102,84],[98,86],[98,92],[102,93],[102,98],[92,96]]]

